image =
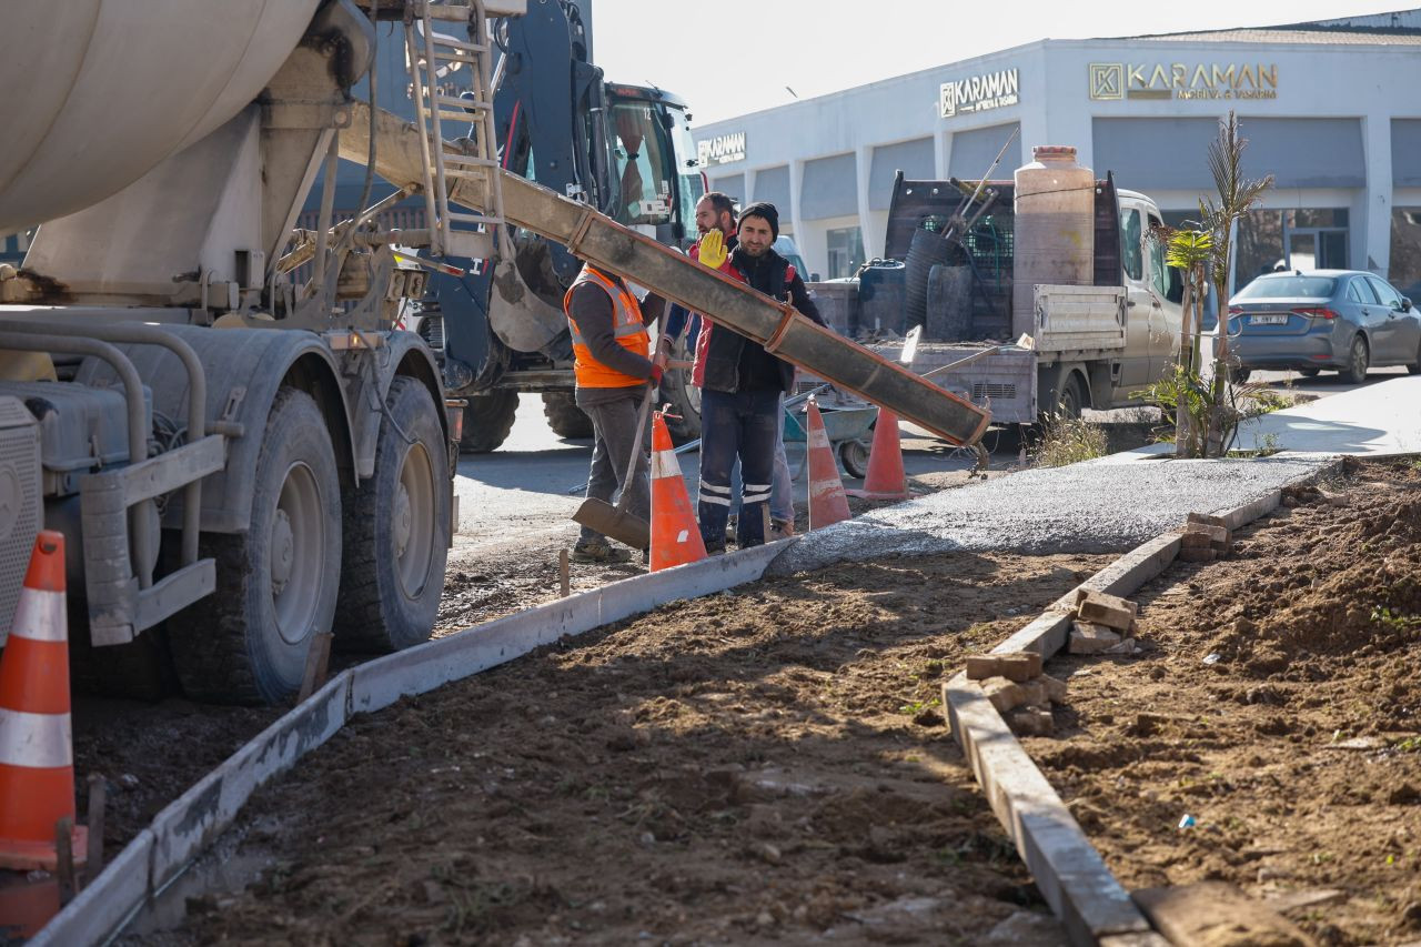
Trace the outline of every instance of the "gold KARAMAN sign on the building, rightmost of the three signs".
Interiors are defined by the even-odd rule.
[[[1277,64],[1091,63],[1090,97],[1096,101],[1277,98]]]

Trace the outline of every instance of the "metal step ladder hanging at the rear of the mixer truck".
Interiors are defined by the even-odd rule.
[[[507,6],[507,4],[502,4]],[[504,13],[497,10],[497,13]],[[436,23],[468,26],[468,40],[439,33]],[[448,27],[452,28],[452,27]],[[415,115],[419,124],[419,154],[423,179],[429,250],[435,256],[487,259],[495,236],[499,256],[513,259],[507,228],[503,226],[503,195],[497,185],[499,149],[493,131],[493,88],[489,68],[489,20],[485,0],[439,3],[419,0],[405,7],[405,58],[409,65]],[[469,91],[449,95],[441,78],[468,70]],[[448,129],[458,129],[446,137]],[[446,151],[446,138],[459,138],[469,127],[468,154]],[[450,209],[449,188],[466,178],[490,186],[490,200],[482,213]]]

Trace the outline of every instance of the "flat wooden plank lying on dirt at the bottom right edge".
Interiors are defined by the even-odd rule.
[[[1312,947],[1316,941],[1277,911],[1228,882],[1150,887],[1133,894],[1177,947]]]

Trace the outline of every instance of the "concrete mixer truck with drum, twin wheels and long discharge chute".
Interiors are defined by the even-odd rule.
[[[396,326],[441,260],[513,266],[517,230],[953,444],[980,438],[983,407],[503,168],[490,23],[527,6],[0,7],[0,87],[26,90],[0,104],[0,236],[38,225],[0,264],[0,636],[45,529],[65,543],[72,664],[101,688],[280,702],[328,633],[426,640],[465,405]],[[351,91],[385,23],[415,121]],[[452,64],[468,95],[441,85]],[[392,191],[337,222],[340,158]],[[323,169],[317,226],[298,229]],[[406,198],[423,226],[381,228]]]

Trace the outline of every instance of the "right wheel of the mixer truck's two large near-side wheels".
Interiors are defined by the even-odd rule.
[[[429,390],[398,377],[385,395],[375,472],[345,491],[345,566],[335,638],[398,651],[429,638],[449,557],[449,452]]]

